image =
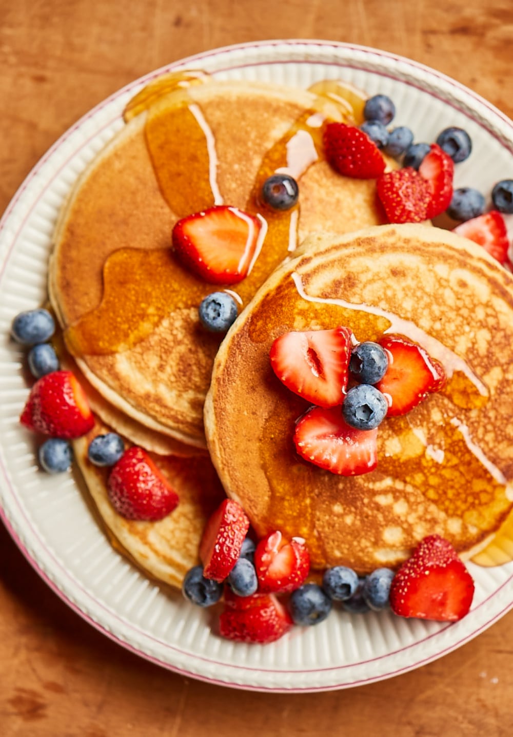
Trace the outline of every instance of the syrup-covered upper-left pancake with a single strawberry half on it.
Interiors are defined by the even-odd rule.
[[[374,181],[336,174],[321,153],[322,119],[346,119],[347,105],[257,83],[170,87],[136,99],[74,186],[55,231],[49,293],[80,371],[109,405],[205,447],[203,402],[220,338],[201,328],[198,305],[218,287],[175,260],[174,223],[220,202],[257,212],[259,185],[280,167],[300,179],[298,209],[262,213],[262,251],[236,287],[246,304],[305,235],[374,225],[383,214]]]

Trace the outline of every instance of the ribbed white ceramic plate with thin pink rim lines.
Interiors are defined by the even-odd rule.
[[[128,85],[83,117],[37,164],[0,223],[0,501],[10,533],[43,579],[106,635],[154,663],[192,677],[265,691],[344,688],[399,674],[478,635],[513,606],[513,564],[471,565],[472,610],[457,624],[407,621],[389,612],[332,612],[310,629],[296,627],[268,646],[222,640],[209,612],[145,579],[98,528],[71,475],[38,470],[32,436],[18,424],[28,394],[24,352],[9,339],[21,310],[46,298],[46,264],[63,198],[78,174],[117,130],[136,91],[171,69],[203,69],[216,79],[262,80],[307,87],[340,78],[369,95],[388,94],[395,125],[433,141],[448,125],[472,137],[472,156],[456,167],[456,186],[489,198],[513,176],[513,123],[484,99],[436,71],[365,49],[318,41],[232,46],[191,57]]]

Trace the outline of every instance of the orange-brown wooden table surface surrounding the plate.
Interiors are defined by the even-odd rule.
[[[513,117],[511,0],[0,0],[0,212],[66,128],[130,80],[230,43],[323,38],[432,66]],[[126,652],[0,525],[0,736],[509,737],[513,612],[419,670],[346,691],[234,692]]]

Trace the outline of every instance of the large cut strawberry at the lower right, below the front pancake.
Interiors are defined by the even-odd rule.
[[[470,609],[472,576],[443,537],[425,537],[397,571],[390,606],[401,617],[456,622]]]

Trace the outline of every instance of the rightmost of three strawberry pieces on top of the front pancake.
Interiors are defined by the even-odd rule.
[[[403,335],[385,335],[380,345],[388,352],[388,368],[376,388],[387,395],[387,416],[406,414],[444,385],[442,363],[433,366],[422,346]]]

